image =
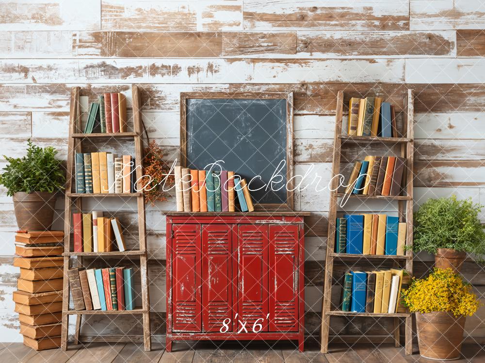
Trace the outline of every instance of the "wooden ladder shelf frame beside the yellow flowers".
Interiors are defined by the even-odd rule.
[[[337,218],[337,205],[341,198],[347,198],[348,195],[338,193],[339,178],[336,175],[340,174],[340,157],[342,144],[360,143],[369,144],[372,142],[389,143],[390,145],[400,146],[400,156],[406,158],[405,182],[406,195],[404,196],[368,196],[351,194],[350,198],[356,198],[366,203],[372,203],[373,200],[387,200],[390,202],[397,202],[399,221],[407,222],[406,231],[406,246],[412,246],[413,243],[413,122],[414,122],[414,98],[412,90],[407,90],[407,95],[404,97],[404,126],[403,136],[401,138],[382,138],[382,137],[366,137],[366,136],[349,136],[342,134],[342,113],[343,113],[343,91],[339,91],[337,95],[337,113],[335,116],[335,137],[334,137],[334,153],[333,153],[333,168],[332,168],[332,189],[330,196],[330,210],[328,213],[328,240],[326,248],[325,259],[325,278],[323,286],[323,301],[322,301],[322,327],[321,338],[322,353],[328,352],[329,331],[330,331],[330,317],[331,316],[370,316],[370,317],[390,317],[394,321],[393,339],[396,347],[400,347],[400,319],[405,320],[405,353],[412,354],[412,320],[409,313],[396,314],[374,314],[374,313],[353,313],[333,310],[331,304],[332,280],[333,280],[333,266],[334,259],[340,261],[354,261],[358,260],[360,263],[366,261],[383,261],[391,259],[393,264],[404,262],[405,270],[412,275],[413,269],[413,255],[411,250],[406,250],[404,256],[395,255],[362,255],[362,254],[347,254],[335,253],[335,225]],[[372,267],[372,264],[369,263]],[[365,338],[363,341],[367,341]]]

